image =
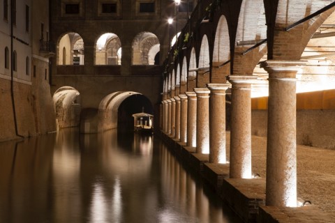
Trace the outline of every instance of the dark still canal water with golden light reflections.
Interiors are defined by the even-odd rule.
[[[241,222],[152,135],[0,143],[0,222]]]

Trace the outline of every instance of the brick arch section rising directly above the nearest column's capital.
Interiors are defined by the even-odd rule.
[[[322,24],[322,21],[325,21],[327,17],[325,14],[334,11],[334,9],[324,15],[317,15],[308,22],[295,26],[290,31],[285,31],[285,28],[332,2],[328,0],[301,3],[299,0],[292,0],[278,1],[278,4],[274,5],[269,0],[265,0],[267,23],[270,24],[268,27],[268,59],[299,60],[309,38]],[[290,40],[290,44],[287,44],[288,40]]]

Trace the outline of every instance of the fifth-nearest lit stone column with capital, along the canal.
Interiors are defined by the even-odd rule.
[[[188,91],[187,95],[187,146],[195,147],[197,133],[197,95]]]

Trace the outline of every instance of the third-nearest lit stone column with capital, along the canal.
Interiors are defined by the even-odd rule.
[[[209,98],[209,162],[226,163],[225,91],[230,84],[207,84]]]

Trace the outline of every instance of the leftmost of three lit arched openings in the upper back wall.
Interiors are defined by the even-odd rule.
[[[68,32],[59,38],[57,65],[84,65],[84,40],[78,33]]]

